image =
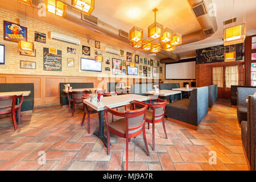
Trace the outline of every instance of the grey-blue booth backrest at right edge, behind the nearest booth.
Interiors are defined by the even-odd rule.
[[[253,95],[256,92],[256,88],[237,88],[237,105],[247,106],[246,99],[248,96]]]

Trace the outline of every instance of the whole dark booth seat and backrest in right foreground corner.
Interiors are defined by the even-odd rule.
[[[243,148],[245,149],[251,171],[255,171],[256,162],[256,96],[249,96],[247,103],[247,121],[241,122],[241,135]]]

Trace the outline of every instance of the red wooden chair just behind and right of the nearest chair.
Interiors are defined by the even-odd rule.
[[[166,139],[167,139],[166,126],[164,125],[164,111],[166,109],[167,100],[162,100],[160,98],[157,98],[157,99],[152,98],[152,100],[155,100],[156,102],[152,104],[151,104],[151,100],[149,100],[150,103],[144,103],[140,101],[136,101],[136,102],[145,104],[149,108],[146,114],[146,122],[148,123],[148,129],[150,127],[150,123],[152,123],[152,140],[153,140],[152,148],[153,150],[155,150],[155,123],[159,123],[162,121],[164,134],[166,135]]]

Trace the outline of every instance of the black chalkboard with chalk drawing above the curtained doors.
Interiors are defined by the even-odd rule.
[[[236,46],[236,47],[235,47]],[[224,62],[225,52],[236,50],[236,60],[243,59],[243,44],[214,46],[196,50],[196,64]]]

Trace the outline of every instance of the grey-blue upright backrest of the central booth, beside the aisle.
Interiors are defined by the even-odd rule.
[[[189,99],[189,113],[191,120],[197,121],[196,126],[204,119],[208,113],[208,86],[193,89]]]

